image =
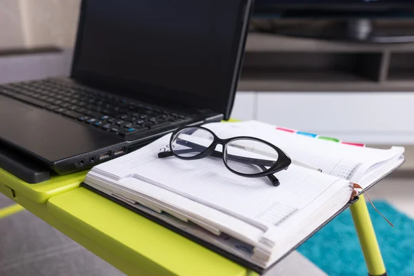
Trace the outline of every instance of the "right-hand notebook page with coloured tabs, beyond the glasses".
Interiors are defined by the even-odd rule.
[[[402,147],[389,150],[362,148],[295,135],[275,130],[274,126],[259,121],[211,123],[205,127],[221,138],[246,135],[264,139],[284,150],[292,159],[321,168],[326,174],[351,181],[359,181],[374,164],[404,153]]]

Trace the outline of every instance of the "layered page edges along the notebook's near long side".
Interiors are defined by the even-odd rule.
[[[159,213],[165,212],[183,221],[192,221],[215,235],[224,232],[248,244],[257,244],[259,237],[263,234],[263,230],[245,221],[133,177],[114,181],[90,172],[85,183],[100,190],[102,188],[110,190],[109,195],[115,195],[134,203],[139,202]]]

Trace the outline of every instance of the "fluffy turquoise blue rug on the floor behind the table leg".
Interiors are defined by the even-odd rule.
[[[374,205],[394,224],[392,228],[368,204],[388,275],[414,275],[414,220],[385,201],[374,201]],[[298,251],[330,276],[368,275],[349,208]]]

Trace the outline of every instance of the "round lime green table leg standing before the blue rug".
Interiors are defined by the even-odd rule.
[[[351,214],[368,268],[368,275],[387,275],[364,195],[359,195],[359,200],[351,205]]]

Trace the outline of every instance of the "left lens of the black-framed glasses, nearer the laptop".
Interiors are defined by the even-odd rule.
[[[172,151],[179,157],[195,157],[204,152],[214,137],[211,132],[202,128],[184,128],[172,139]]]

